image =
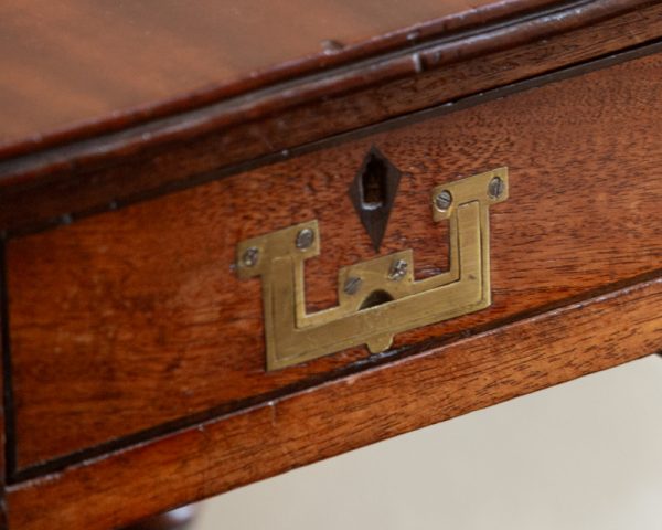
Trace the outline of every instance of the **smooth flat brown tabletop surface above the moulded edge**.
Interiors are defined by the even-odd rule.
[[[200,104],[547,3],[2,2],[0,146],[30,138],[34,148],[57,129],[89,134],[108,118],[126,126],[181,99]]]

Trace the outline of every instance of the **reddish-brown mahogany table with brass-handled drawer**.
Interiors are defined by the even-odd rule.
[[[3,2],[2,528],[660,352],[661,39],[643,0]]]

